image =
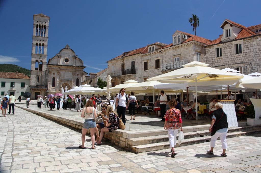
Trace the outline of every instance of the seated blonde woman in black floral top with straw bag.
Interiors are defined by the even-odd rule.
[[[111,105],[107,107],[107,115],[109,115],[109,119],[106,121],[107,127],[104,127],[100,130],[100,139],[97,142],[97,145],[102,144],[104,132],[112,132],[113,130],[117,130],[118,128],[120,128],[120,118],[118,117],[118,114],[113,110],[113,107]]]

